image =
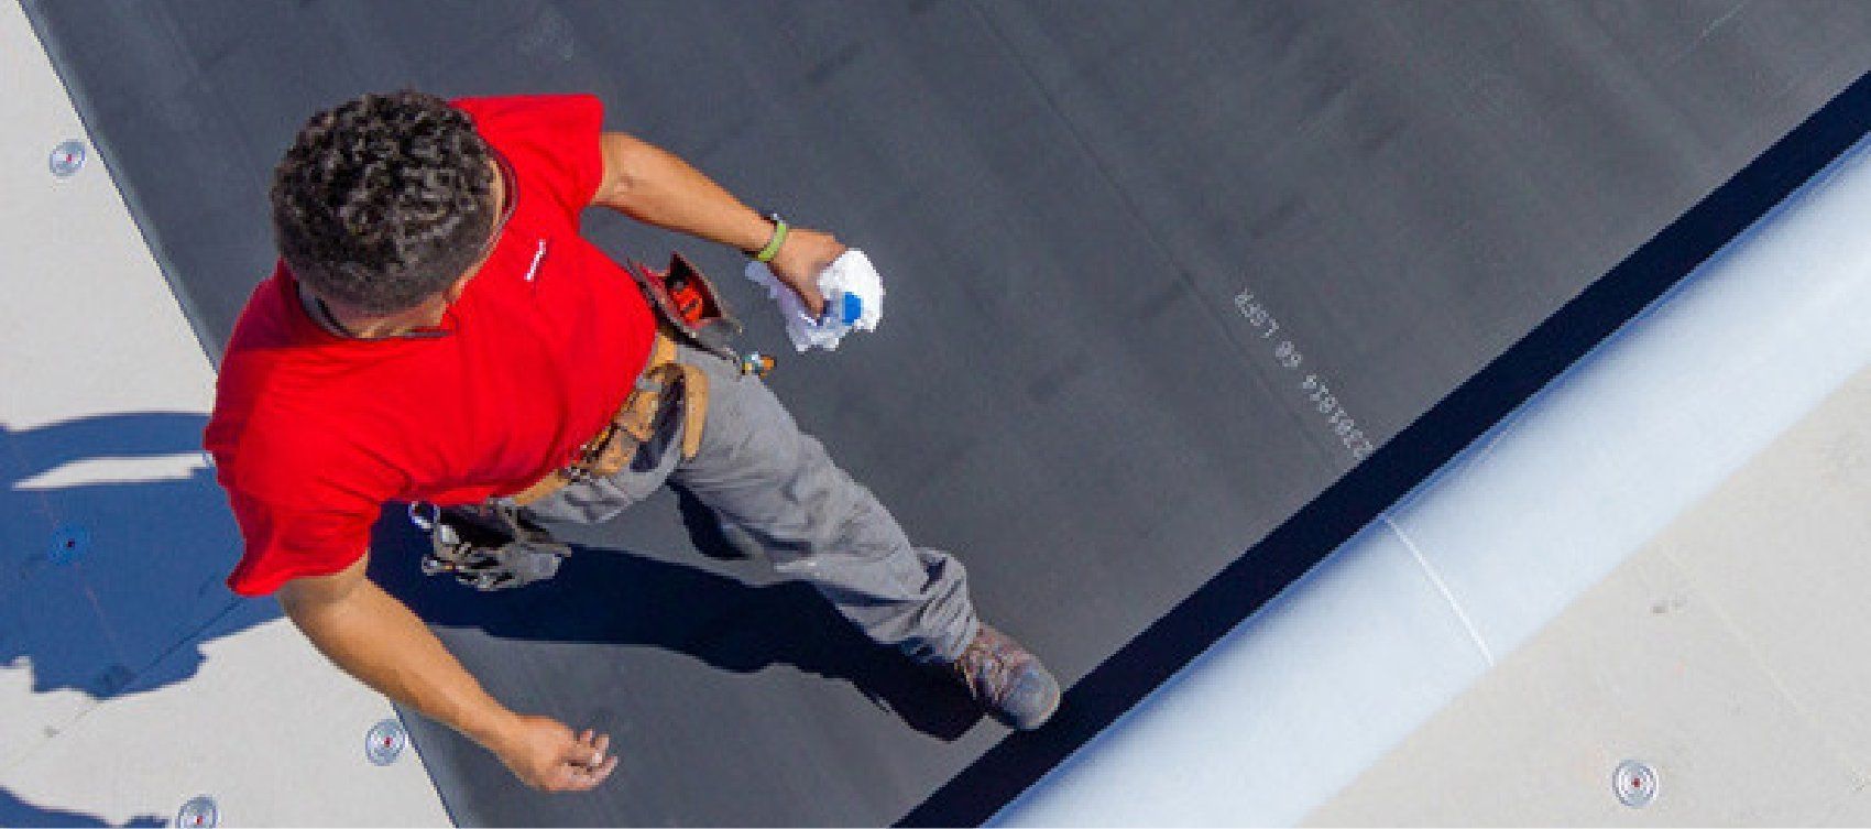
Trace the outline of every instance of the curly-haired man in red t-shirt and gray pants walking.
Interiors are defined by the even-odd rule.
[[[526,784],[589,790],[616,767],[610,737],[488,696],[365,578],[370,526],[385,502],[599,520],[677,481],[872,640],[1037,728],[1059,685],[975,619],[962,565],[913,548],[758,378],[675,344],[670,326],[659,333],[632,277],[578,236],[578,215],[597,204],[733,245],[812,311],[816,275],[844,245],[761,217],[601,120],[589,95],[402,92],[320,112],[297,135],[271,187],[281,262],[236,324],[206,434],[247,541],[228,586],[277,589],[335,664]],[[638,393],[662,369],[683,384]],[[589,473],[595,442],[644,400],[645,430],[602,444],[629,462]]]

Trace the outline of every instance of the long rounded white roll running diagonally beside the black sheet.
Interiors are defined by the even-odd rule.
[[[997,822],[1302,820],[1871,365],[1867,215],[1862,142]],[[1426,584],[1441,614],[1394,610]],[[1727,677],[1746,674],[1740,655],[1699,659]],[[1835,679],[1813,681],[1849,694]],[[1734,692],[1762,711],[1774,702],[1764,687]],[[1697,702],[1725,694],[1712,685]],[[1564,704],[1523,700],[1516,711],[1538,719]],[[1800,743],[1755,743],[1779,732],[1776,720],[1749,722],[1753,732],[1718,749],[1774,745],[1762,754],[1774,762]],[[1600,793],[1609,769],[1598,771]],[[1422,769],[1424,782],[1433,777]],[[1536,812],[1495,820],[1547,823]]]

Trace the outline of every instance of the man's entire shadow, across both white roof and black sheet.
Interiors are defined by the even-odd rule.
[[[206,417],[183,412],[0,425],[11,472],[0,488],[0,513],[51,511],[58,524],[86,535],[65,556],[43,535],[43,518],[0,524],[0,541],[13,550],[0,558],[0,574],[11,576],[0,578],[0,664],[30,659],[34,692],[75,689],[105,700],[183,683],[202,666],[202,644],[279,616],[273,601],[241,601],[223,586],[239,541],[211,470],[153,479],[82,472],[95,460],[198,453],[204,425]],[[587,545],[552,582],[479,593],[421,574],[427,541],[402,515],[400,507],[385,511],[391,518],[378,528],[370,574],[430,623],[528,640],[664,647],[741,674],[795,664],[849,681],[941,739],[979,720],[954,683],[877,647],[805,584],[748,586],[709,573],[705,560],[666,563]],[[655,524],[660,516],[638,518]],[[681,524],[687,543],[705,556],[745,556],[692,500]],[[668,541],[655,548],[681,546],[683,533],[668,530],[660,533]]]

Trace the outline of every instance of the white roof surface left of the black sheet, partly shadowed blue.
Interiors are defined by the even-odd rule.
[[[213,371],[17,4],[0,4],[0,823],[447,825],[395,717],[221,584],[239,552],[200,453]],[[60,531],[80,533],[65,560]]]

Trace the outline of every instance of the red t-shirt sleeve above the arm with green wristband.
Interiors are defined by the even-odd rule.
[[[520,187],[546,191],[573,217],[597,196],[604,105],[595,95],[464,97],[453,105],[513,165]]]

